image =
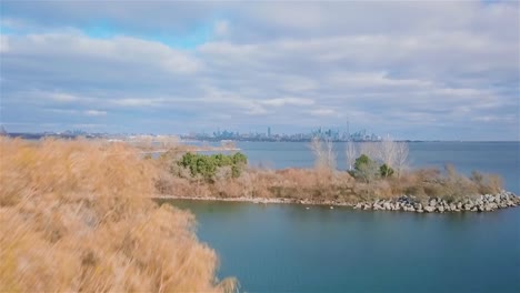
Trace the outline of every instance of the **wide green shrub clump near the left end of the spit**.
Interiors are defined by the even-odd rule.
[[[217,171],[220,168],[230,166],[231,176],[240,176],[243,168],[248,164],[248,158],[243,153],[226,154],[193,154],[182,155],[178,165],[189,169],[191,176],[202,176],[206,180],[214,180]]]

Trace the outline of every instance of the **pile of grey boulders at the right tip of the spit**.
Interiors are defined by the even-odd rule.
[[[467,196],[462,200],[448,202],[444,199],[431,198],[418,200],[416,196],[402,195],[390,200],[374,200],[360,202],[354,209],[373,211],[406,211],[417,213],[443,213],[443,212],[491,212],[498,209],[520,206],[520,196],[511,192],[502,191],[498,194],[484,194]]]

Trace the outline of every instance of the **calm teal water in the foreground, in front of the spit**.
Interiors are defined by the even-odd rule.
[[[174,201],[247,292],[520,292],[520,209],[363,212]]]

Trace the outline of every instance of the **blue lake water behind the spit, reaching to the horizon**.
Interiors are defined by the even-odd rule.
[[[273,169],[309,168],[313,165],[309,143],[302,142],[238,142],[252,165]],[[470,174],[473,170],[500,174],[504,188],[520,194],[520,142],[411,142],[411,168],[443,169],[452,163]],[[334,143],[338,168],[346,169],[346,144]]]

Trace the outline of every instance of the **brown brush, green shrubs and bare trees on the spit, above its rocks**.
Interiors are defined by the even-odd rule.
[[[364,150],[371,156],[358,152],[358,159],[351,162],[352,170],[339,171],[326,144],[314,143],[311,146],[317,154],[316,168],[286,170],[254,169],[247,164],[220,165],[219,160],[222,159],[214,161],[210,156],[204,159],[198,155],[198,160],[193,161],[192,154],[171,151],[156,162],[160,170],[156,186],[160,195],[174,198],[347,205],[402,195],[413,196],[423,203],[433,198],[451,203],[482,194],[497,194],[502,190],[502,180],[496,174],[474,171],[471,176],[466,176],[452,165],[447,165],[444,170],[410,170],[402,158],[371,159],[377,158],[377,145],[373,143]],[[384,148],[392,150],[388,145]],[[401,153],[402,149],[402,145],[394,148]],[[389,152],[382,153],[387,158],[398,158]],[[189,163],[184,162],[187,156]],[[226,160],[232,161],[232,158]]]

